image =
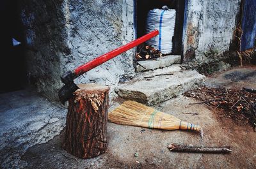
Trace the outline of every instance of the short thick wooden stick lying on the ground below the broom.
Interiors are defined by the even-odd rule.
[[[193,145],[181,145],[177,143],[171,143],[168,145],[170,151],[176,152],[197,152],[197,153],[218,153],[226,154],[232,152],[230,146],[225,147],[195,147]]]

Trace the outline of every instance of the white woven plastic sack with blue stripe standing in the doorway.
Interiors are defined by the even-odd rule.
[[[159,35],[146,43],[160,50],[162,54],[172,53],[172,38],[174,34],[176,11],[163,6],[163,10],[154,9],[148,11],[146,31],[150,33],[157,29]]]

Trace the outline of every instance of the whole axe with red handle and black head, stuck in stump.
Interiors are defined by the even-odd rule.
[[[155,30],[148,34],[145,34],[144,36],[141,36],[140,38],[131,41],[127,43],[126,45],[116,48],[115,50],[112,50],[111,52],[108,52],[107,54],[100,55],[99,57],[93,59],[90,62],[87,62],[86,64],[83,64],[76,68],[73,71],[67,71],[62,77],[61,81],[65,84],[63,87],[61,87],[60,91],[58,91],[58,96],[60,98],[61,103],[65,103],[69,98],[72,97],[72,94],[74,91],[79,89],[77,85],[74,83],[74,79],[83,75],[83,73],[86,73],[86,71],[92,70],[93,68],[99,66],[100,64],[108,61],[109,59],[112,59],[113,57],[116,57],[119,54],[122,54],[123,52],[136,47],[140,45],[141,43],[150,40],[154,36],[157,36],[159,34],[159,31]]]

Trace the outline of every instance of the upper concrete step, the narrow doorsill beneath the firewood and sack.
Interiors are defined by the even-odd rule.
[[[180,55],[166,55],[154,60],[138,61],[139,64],[137,65],[137,71],[156,70],[159,68],[168,67],[175,63],[180,63],[180,61]]]

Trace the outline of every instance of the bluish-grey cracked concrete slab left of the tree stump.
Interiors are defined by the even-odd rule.
[[[0,94],[0,164],[23,168],[26,150],[59,135],[65,126],[65,108],[31,90]]]

